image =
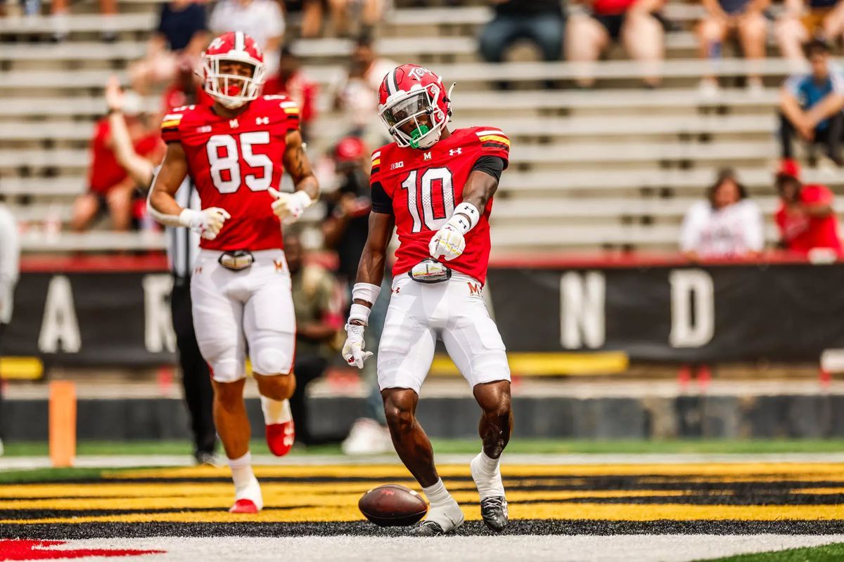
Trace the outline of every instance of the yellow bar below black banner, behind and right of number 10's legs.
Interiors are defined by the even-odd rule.
[[[510,371],[523,376],[612,375],[626,372],[630,359],[624,351],[594,353],[508,353]],[[430,371],[439,375],[459,375],[451,358],[437,354]]]

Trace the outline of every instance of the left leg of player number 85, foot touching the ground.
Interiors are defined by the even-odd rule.
[[[261,487],[252,472],[251,431],[243,402],[246,378],[246,340],[241,329],[243,304],[226,292],[239,274],[220,266],[216,255],[216,252],[203,251],[194,268],[191,278],[193,327],[199,351],[211,370],[214,425],[235,483],[235,505],[230,511],[255,513],[261,510],[263,500]]]

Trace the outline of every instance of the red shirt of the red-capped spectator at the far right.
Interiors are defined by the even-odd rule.
[[[803,185],[798,198],[800,202],[809,205],[832,206],[832,192],[825,185]],[[809,217],[803,213],[789,214],[781,203],[774,219],[787,249],[808,254],[813,248],[831,248],[841,253],[835,213],[823,218]]]

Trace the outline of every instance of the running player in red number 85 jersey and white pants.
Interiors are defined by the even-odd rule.
[[[281,223],[298,219],[319,188],[295,102],[260,96],[264,66],[255,41],[241,32],[220,35],[205,51],[203,67],[204,89],[214,104],[165,115],[167,153],[149,211],[165,225],[202,235],[191,279],[193,323],[211,368],[214,423],[235,481],[230,511],[255,513],[263,501],[252,473],[243,402],[246,349],[269,448],[284,455],[294,440],[288,399],[295,389],[295,318]],[[278,191],[284,169],[293,193]],[[173,197],[186,174],[197,186],[202,211],[183,209]]]

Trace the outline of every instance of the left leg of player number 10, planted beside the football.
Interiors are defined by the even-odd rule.
[[[422,293],[442,291],[444,287],[422,286],[404,277],[393,281],[392,289],[378,345],[378,385],[384,415],[398,457],[430,502],[428,517],[414,528],[414,534],[449,533],[463,524],[463,511],[437,474],[430,440],[416,419],[419,388],[430,370],[436,345],[434,330],[425,318]]]

